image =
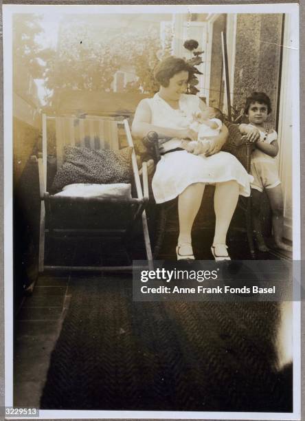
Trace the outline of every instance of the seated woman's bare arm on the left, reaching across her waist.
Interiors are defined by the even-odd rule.
[[[131,126],[133,136],[144,138],[150,131],[156,131],[160,138],[168,136],[169,138],[197,140],[197,133],[192,129],[170,129],[152,125],[150,122],[150,107],[146,100],[142,100],[135,110],[135,118],[133,118],[133,125]]]

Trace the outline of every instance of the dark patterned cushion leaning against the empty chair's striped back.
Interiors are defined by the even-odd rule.
[[[52,191],[68,184],[111,184],[131,182],[132,147],[120,151],[95,151],[88,148],[65,147],[63,166],[57,171]]]

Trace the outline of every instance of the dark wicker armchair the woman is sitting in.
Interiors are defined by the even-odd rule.
[[[251,152],[253,150],[253,144],[247,141],[245,136],[238,138],[235,136],[236,132],[236,125],[231,122],[225,123],[229,129],[229,138],[226,144],[223,147],[223,151],[227,151],[232,153],[232,155],[236,156],[240,163],[245,167],[247,173],[250,172],[250,164],[251,164]],[[238,131],[238,129],[237,129]],[[238,139],[237,139],[238,138]],[[156,132],[151,131],[148,133],[148,136],[143,139],[144,145],[147,147],[150,155],[155,158],[155,162],[157,163],[161,156],[159,153],[159,142],[161,139],[158,138]],[[164,235],[166,233],[166,224],[168,220],[168,211],[171,209],[172,203],[167,206],[167,204],[159,205],[159,215],[157,217],[157,224],[155,227],[155,241],[153,247],[153,259],[157,259],[159,252],[161,250],[161,246],[163,244]],[[253,244],[253,232],[252,232],[252,224],[251,224],[251,197],[240,197],[238,200],[238,206],[242,208],[245,212],[246,217],[246,230],[247,230],[247,240],[249,244],[249,251],[251,255],[251,259],[256,259],[256,253]]]

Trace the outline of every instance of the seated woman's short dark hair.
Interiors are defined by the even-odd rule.
[[[154,77],[161,86],[168,87],[170,79],[175,74],[188,72],[190,76],[190,68],[190,65],[183,58],[170,56],[164,58],[164,60],[157,64],[154,70]]]

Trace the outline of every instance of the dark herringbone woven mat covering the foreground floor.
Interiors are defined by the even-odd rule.
[[[43,409],[291,411],[276,303],[137,303],[131,279],[75,279]]]

